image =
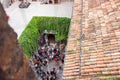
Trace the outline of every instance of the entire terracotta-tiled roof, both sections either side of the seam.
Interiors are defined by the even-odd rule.
[[[120,0],[74,0],[66,53],[65,78],[75,78],[66,67],[76,54],[81,76],[120,75]]]

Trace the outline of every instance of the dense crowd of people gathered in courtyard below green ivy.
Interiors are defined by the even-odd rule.
[[[63,70],[64,52],[60,50],[56,42],[50,43],[46,35],[41,38],[39,49],[33,52],[30,64],[33,65],[41,80],[59,80],[57,75],[60,70]]]

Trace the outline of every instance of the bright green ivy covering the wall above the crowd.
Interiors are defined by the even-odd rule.
[[[69,18],[35,16],[22,32],[18,41],[21,44],[26,56],[30,58],[32,52],[37,49],[39,36],[44,30],[57,32],[55,40],[59,42],[67,39],[69,25]]]

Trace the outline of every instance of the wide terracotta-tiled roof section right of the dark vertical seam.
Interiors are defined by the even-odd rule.
[[[120,74],[120,0],[84,5],[81,75]]]

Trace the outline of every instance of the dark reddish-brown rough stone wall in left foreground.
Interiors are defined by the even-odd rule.
[[[36,80],[0,4],[0,80]]]

